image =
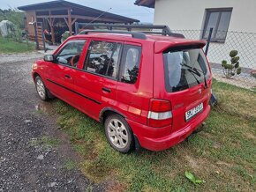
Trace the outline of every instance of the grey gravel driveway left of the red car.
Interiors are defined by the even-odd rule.
[[[0,192],[102,191],[67,159],[79,159],[34,90],[31,65],[41,54],[0,55]],[[48,104],[50,107],[50,104]],[[56,138],[54,146],[41,138]]]

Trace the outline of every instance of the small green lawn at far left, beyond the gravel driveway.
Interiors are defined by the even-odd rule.
[[[0,54],[25,53],[34,50],[34,44],[16,42],[0,37]]]

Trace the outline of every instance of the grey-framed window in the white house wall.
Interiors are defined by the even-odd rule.
[[[207,9],[202,38],[207,39],[210,28],[213,28],[212,41],[225,41],[230,25],[232,8]]]

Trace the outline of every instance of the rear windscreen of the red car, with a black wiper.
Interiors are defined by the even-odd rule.
[[[201,48],[171,48],[163,52],[165,85],[178,92],[203,83],[210,77],[207,59]]]

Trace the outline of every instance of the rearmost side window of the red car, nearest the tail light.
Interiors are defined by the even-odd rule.
[[[135,84],[139,75],[139,62],[141,47],[124,45],[122,58],[123,69],[121,71],[121,82]]]

